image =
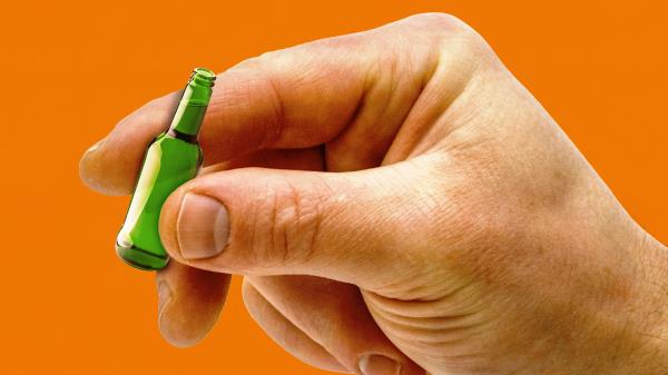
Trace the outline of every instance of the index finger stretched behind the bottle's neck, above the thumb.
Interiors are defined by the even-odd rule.
[[[348,158],[382,159],[435,69],[442,31],[453,29],[461,23],[451,17],[413,17],[265,53],[220,73],[199,137],[205,165],[337,139],[357,150]],[[102,193],[129,194],[177,98],[156,99],[124,119],[84,156],[82,179]]]

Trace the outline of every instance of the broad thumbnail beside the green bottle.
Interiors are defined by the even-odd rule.
[[[217,199],[186,194],[176,221],[176,236],[184,259],[219,254],[229,237],[227,209]]]

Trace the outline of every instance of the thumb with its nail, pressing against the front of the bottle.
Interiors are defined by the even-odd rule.
[[[313,275],[370,290],[420,259],[414,162],[354,172],[244,168],[205,175],[165,203],[163,243],[193,267]],[[422,230],[422,227],[421,227]],[[407,275],[406,275],[407,276]]]

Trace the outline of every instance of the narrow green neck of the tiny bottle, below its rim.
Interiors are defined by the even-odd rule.
[[[169,125],[169,132],[197,139],[210,97],[210,86],[190,78]]]

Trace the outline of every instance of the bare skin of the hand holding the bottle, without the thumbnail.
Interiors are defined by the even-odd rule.
[[[124,119],[81,159],[84,181],[130,194],[177,99]],[[176,261],[157,276],[159,325],[174,345],[206,335],[239,274],[257,323],[325,369],[668,372],[667,248],[451,16],[233,67],[200,142],[207,167],[160,218]],[[179,248],[188,193],[228,211],[218,255]]]

